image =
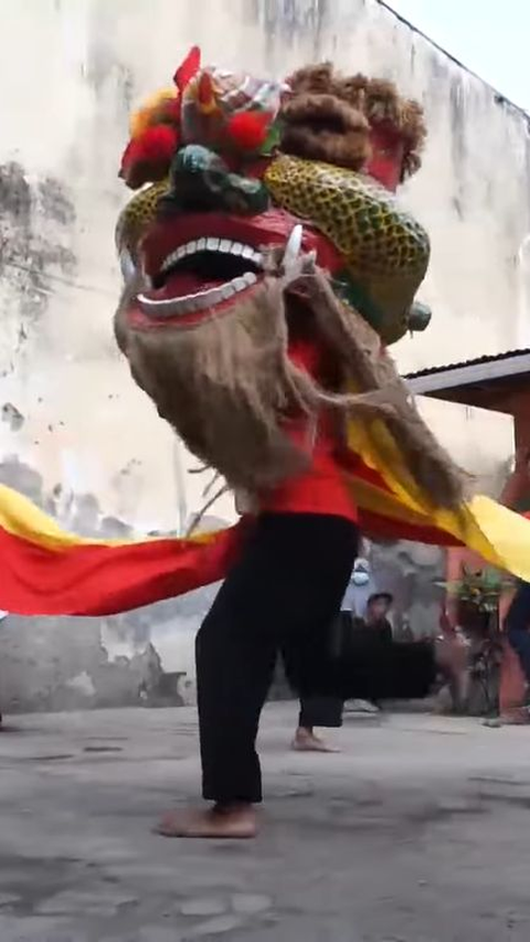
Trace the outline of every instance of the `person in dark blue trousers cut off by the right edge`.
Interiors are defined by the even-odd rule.
[[[516,453],[513,472],[502,490],[500,502],[511,510],[530,516],[530,448]],[[505,618],[505,631],[509,644],[519,657],[527,681],[526,703],[530,691],[530,583],[519,582],[516,594]]]

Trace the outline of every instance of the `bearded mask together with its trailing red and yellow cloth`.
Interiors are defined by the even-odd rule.
[[[428,236],[394,194],[424,137],[390,83],[327,64],[277,83],[193,49],[131,119],[116,338],[159,414],[251,506],[304,473],[326,410],[361,530],[467,544],[530,580],[528,522],[466,497],[388,352],[431,319],[416,299]],[[296,338],[332,354],[329,375],[289,356]],[[0,525],[3,608],[106,614],[221,579],[246,521],[96,542],[2,488]]]

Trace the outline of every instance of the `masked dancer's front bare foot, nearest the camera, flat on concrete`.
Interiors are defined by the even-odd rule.
[[[257,816],[252,805],[214,805],[168,812],[156,828],[163,837],[227,837],[247,839],[257,834]]]

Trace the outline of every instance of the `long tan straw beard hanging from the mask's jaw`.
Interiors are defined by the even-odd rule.
[[[349,416],[382,419],[411,479],[433,504],[457,508],[465,475],[423,422],[379,336],[335,296],[311,257],[299,257],[288,273],[277,260],[269,253],[264,282],[246,298],[187,327],[131,327],[127,309],[138,285],[126,288],[115,332],[138,385],[188,448],[234,489],[255,494],[303,472],[311,422],[328,406],[344,433]],[[295,285],[337,358],[343,388],[351,378],[359,393],[322,389],[289,360],[286,309]],[[308,417],[307,449],[285,434],[293,410]]]

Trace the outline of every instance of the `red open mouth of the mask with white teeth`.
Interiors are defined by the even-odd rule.
[[[193,322],[231,305],[263,281],[263,250],[284,246],[299,223],[279,209],[254,216],[208,212],[160,219],[141,247],[152,287],[138,295],[140,311],[149,319]],[[335,246],[305,226],[301,252],[311,251],[331,273],[340,266]]]

